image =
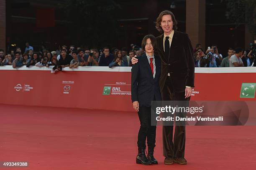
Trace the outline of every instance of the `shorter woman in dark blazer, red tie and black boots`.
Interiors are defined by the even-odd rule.
[[[156,38],[153,35],[145,36],[141,46],[146,53],[139,56],[139,62],[132,67],[131,97],[133,108],[138,112],[141,122],[138,132],[136,163],[150,165],[157,164],[153,155],[156,146],[156,126],[151,126],[151,101],[161,100],[159,86],[161,59],[154,55]],[[148,144],[147,157],[145,155],[146,138]]]

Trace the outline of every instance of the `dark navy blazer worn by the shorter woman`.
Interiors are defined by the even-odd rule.
[[[150,107],[154,99],[161,100],[159,79],[161,76],[161,58],[155,57],[156,74],[153,77],[146,53],[138,56],[138,63],[131,70],[131,98],[141,107]]]

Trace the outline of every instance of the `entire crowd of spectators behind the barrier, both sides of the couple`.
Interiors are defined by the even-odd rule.
[[[78,68],[78,66],[131,66],[133,56],[141,56],[144,51],[131,44],[131,50],[127,48],[82,49],[73,45],[59,46],[56,51],[48,51],[42,48],[35,52],[29,43],[22,53],[17,47],[15,51],[4,53],[0,49],[0,65],[12,65],[13,68],[21,66],[53,66],[54,71],[61,71],[64,67]],[[242,48],[229,48],[227,55],[219,53],[218,47],[212,45],[204,52],[201,45],[194,49],[195,67],[243,67],[253,63],[252,50],[244,51]]]

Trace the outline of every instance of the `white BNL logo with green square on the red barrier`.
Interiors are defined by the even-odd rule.
[[[105,84],[102,95],[131,95],[131,84],[126,84],[125,82]]]

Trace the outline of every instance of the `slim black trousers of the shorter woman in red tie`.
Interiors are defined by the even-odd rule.
[[[138,117],[141,122],[138,132],[138,147],[146,148],[146,139],[148,147],[155,147],[156,126],[151,126],[151,107],[140,107]]]

